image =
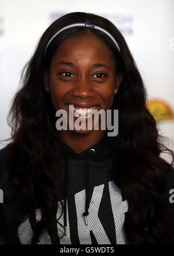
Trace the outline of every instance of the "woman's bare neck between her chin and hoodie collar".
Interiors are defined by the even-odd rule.
[[[77,134],[74,131],[59,131],[59,139],[66,143],[76,153],[81,153],[99,142],[106,131],[91,131],[88,134]]]

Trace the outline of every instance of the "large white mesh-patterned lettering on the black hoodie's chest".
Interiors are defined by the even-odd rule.
[[[72,218],[69,218],[71,215],[71,206],[67,204],[67,236],[63,236],[64,229],[60,229],[64,226],[64,216],[62,215],[62,208],[59,205],[57,209],[57,220],[59,220],[59,225],[57,224],[57,230],[59,230],[60,244],[73,244],[73,237],[78,237],[79,244],[92,244],[91,233],[97,244],[111,244],[111,241],[106,233],[106,223],[103,225],[103,220],[100,219],[99,211],[101,211],[101,203],[104,192],[104,184],[98,185],[93,188],[92,198],[90,200],[90,214],[88,215],[88,226],[85,225],[84,216],[82,213],[85,211],[85,205],[82,202],[85,202],[85,190],[79,191],[74,195],[74,206],[76,213],[77,221],[77,231],[74,230],[74,223],[72,223]],[[125,222],[125,213],[128,211],[128,201],[122,201],[121,190],[115,185],[114,181],[109,181],[108,183],[108,192],[109,200],[111,203],[112,215],[114,217],[115,224],[115,236],[117,244],[126,244],[126,236],[124,232],[124,222]],[[60,204],[60,201],[58,202]],[[110,216],[108,216],[109,218]],[[36,221],[41,220],[41,211],[36,209]],[[73,231],[72,231],[73,230]],[[30,220],[27,218],[19,226],[19,238],[21,244],[31,244],[31,238],[33,236]],[[77,234],[74,234],[77,232]],[[115,241],[116,243],[116,241]],[[50,236],[48,232],[42,233],[42,236],[39,239],[38,244],[51,244]]]

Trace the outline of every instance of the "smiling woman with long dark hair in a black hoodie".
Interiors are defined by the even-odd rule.
[[[173,153],[114,24],[92,13],[60,17],[21,84],[9,115],[12,142],[0,154],[1,243],[173,243],[174,174],[160,157]],[[117,136],[101,128],[102,117],[95,129],[95,110],[113,119],[118,110]],[[92,129],[78,128],[78,118]]]

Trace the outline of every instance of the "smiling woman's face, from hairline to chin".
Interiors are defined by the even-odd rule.
[[[73,105],[74,121],[79,115],[83,117],[81,120],[86,121],[86,129],[77,130],[73,121],[73,124],[67,123],[68,127],[74,127],[74,132],[67,132],[64,129],[59,132],[59,137],[71,148],[75,148],[76,152],[89,148],[91,143],[103,137],[104,130],[89,132],[89,121],[93,121],[92,130],[96,127],[96,122],[100,126],[101,121],[91,120],[89,113],[95,109],[109,110],[114,100],[114,89],[118,88],[121,82],[113,52],[90,33],[89,30],[85,35],[66,38],[57,48],[49,71],[45,71],[45,84],[50,91],[55,110],[67,110],[67,120],[70,120],[69,106]],[[79,134],[86,136],[84,144],[77,148]]]

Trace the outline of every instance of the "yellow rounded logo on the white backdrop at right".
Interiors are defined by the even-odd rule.
[[[172,107],[161,99],[152,99],[147,102],[148,111],[156,121],[174,120]]]

